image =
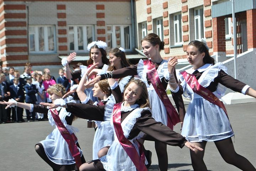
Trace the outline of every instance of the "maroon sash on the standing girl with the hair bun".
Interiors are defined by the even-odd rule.
[[[162,82],[158,76],[158,73],[156,71],[155,65],[151,60],[144,60],[144,65],[148,66],[148,78],[150,79],[151,84],[153,85],[158,97],[164,104],[166,111],[167,111],[167,126],[171,129],[173,129],[174,125],[180,122],[180,117],[174,108],[172,106],[172,103],[169,99],[169,97],[166,94],[166,91],[164,89],[164,86],[162,85]],[[153,105],[153,104],[151,104]]]

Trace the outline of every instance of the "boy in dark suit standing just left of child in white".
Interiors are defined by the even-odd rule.
[[[35,85],[32,84],[32,77],[28,76],[26,78],[27,84],[24,86],[24,89],[26,91],[26,98],[25,102],[26,103],[31,103],[31,104],[36,104],[36,93],[37,93],[37,88]],[[36,113],[35,112],[30,112],[29,110],[26,109],[26,114],[27,114],[27,121],[36,121]]]

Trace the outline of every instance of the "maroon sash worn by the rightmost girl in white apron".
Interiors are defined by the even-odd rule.
[[[213,103],[214,105],[219,106],[224,110],[226,115],[226,108],[222,101],[219,100],[210,90],[206,89],[205,87],[201,86],[197,81],[194,74],[188,74],[186,71],[182,71],[181,74],[183,75],[184,79],[186,80],[187,84],[191,87],[191,89],[197,93],[198,95],[202,96],[204,99],[208,100],[209,102]]]

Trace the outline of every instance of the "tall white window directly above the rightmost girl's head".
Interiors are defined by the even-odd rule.
[[[195,40],[200,40],[204,38],[203,7],[194,9],[194,36]]]

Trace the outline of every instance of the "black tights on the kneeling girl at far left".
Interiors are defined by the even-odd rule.
[[[77,145],[79,146],[79,144],[77,143]],[[47,162],[48,165],[50,165],[53,169],[53,171],[78,171],[79,169],[76,167],[75,164],[72,165],[58,165],[55,164],[54,162],[50,161],[50,159],[47,157],[43,145],[41,143],[36,144],[35,146],[36,152],[37,154],[45,161]],[[85,159],[84,156],[81,156],[81,161],[82,163],[85,163]]]

